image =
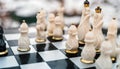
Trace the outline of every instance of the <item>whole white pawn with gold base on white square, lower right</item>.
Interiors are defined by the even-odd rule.
[[[81,62],[86,64],[94,63],[94,57],[96,55],[94,43],[95,36],[92,31],[89,31],[85,35],[85,46],[81,53]]]

